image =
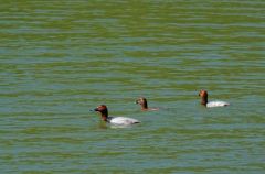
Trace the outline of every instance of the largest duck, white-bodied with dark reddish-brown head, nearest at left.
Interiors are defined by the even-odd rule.
[[[106,105],[100,105],[97,108],[94,109],[94,111],[99,112],[102,116],[102,120],[105,122],[108,122],[110,124],[115,126],[130,126],[140,123],[140,121],[134,119],[134,118],[127,118],[127,117],[109,117],[108,116],[108,109]]]

